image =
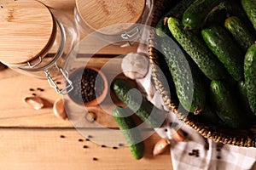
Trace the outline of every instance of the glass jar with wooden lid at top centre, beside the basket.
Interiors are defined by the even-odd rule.
[[[74,15],[81,34],[95,31],[99,40],[127,47],[141,37],[152,8],[152,0],[76,0]]]

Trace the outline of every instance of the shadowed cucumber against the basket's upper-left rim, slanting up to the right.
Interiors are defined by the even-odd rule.
[[[194,1],[195,0],[181,0],[173,8],[169,9],[169,11],[166,14],[164,14],[158,21],[158,23],[156,25],[155,33],[159,37],[163,37],[164,35],[171,36],[171,32],[169,31],[167,23],[166,23],[167,22],[166,18],[172,16],[172,17],[181,19],[183,16],[183,12]]]

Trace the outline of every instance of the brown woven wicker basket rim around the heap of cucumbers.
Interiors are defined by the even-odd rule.
[[[154,4],[154,14],[151,26],[155,27],[158,20],[160,20],[161,14],[164,14],[166,1],[157,1]],[[205,138],[212,139],[215,142],[220,142],[223,144],[233,144],[241,147],[256,147],[256,126],[248,129],[233,129],[229,127],[220,127],[217,125],[210,125],[206,122],[202,122],[194,114],[189,114],[189,116],[184,116],[182,112],[177,111],[177,102],[175,99],[171,98],[171,94],[168,88],[163,83],[164,77],[160,69],[163,69],[163,65],[160,65],[164,59],[158,54],[157,50],[154,48],[157,44],[155,39],[155,31],[152,29],[150,31],[150,36],[148,38],[148,57],[150,60],[150,65],[152,68],[152,79],[154,80],[154,86],[160,93],[164,104],[173,111],[179,119],[185,122],[189,127],[194,128],[198,133]],[[172,88],[172,87],[171,87]]]

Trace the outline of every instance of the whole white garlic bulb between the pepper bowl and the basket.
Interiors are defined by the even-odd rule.
[[[149,61],[143,54],[130,53],[122,59],[121,68],[125,77],[132,80],[143,78],[148,73]]]

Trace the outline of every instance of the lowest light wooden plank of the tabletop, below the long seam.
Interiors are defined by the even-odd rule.
[[[159,139],[156,135],[145,141],[145,157],[137,161],[127,147],[102,148],[102,144],[86,141],[73,129],[2,128],[0,133],[0,167],[5,170],[166,170],[171,167],[168,150],[161,156],[152,156],[153,145]],[[61,135],[65,138],[60,138]]]

